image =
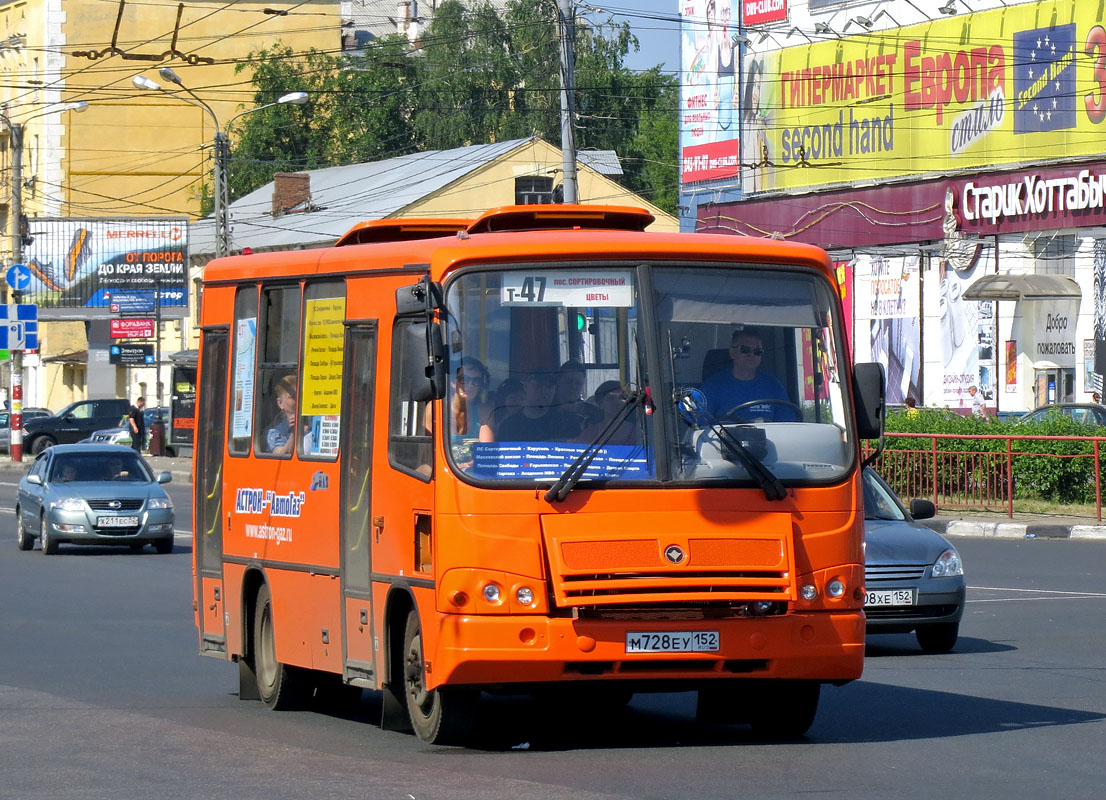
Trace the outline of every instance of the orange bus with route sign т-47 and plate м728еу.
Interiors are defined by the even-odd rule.
[[[860,440],[824,251],[641,209],[363,224],[204,278],[200,652],[272,708],[383,693],[465,737],[481,692],[699,693],[802,735],[860,675]]]

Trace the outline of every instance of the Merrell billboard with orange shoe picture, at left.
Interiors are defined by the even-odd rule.
[[[163,316],[188,315],[187,219],[32,219],[29,228],[23,299],[40,319],[108,319],[121,297],[157,298]]]

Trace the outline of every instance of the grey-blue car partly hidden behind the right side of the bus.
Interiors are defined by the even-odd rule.
[[[910,633],[927,653],[948,653],[960,635],[964,575],[960,553],[918,524],[929,500],[907,511],[875,470],[864,470],[864,612],[868,633]]]

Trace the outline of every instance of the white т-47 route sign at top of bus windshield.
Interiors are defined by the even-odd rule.
[[[613,308],[634,305],[634,273],[628,270],[504,272],[500,303],[529,308]]]

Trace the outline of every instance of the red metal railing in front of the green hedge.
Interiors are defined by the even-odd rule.
[[[1058,443],[1072,443],[1068,448],[1081,451],[1048,451],[1062,449]],[[1004,511],[1013,517],[1015,459],[1061,459],[1073,466],[1079,461],[1083,469],[1071,470],[1071,480],[1085,480],[1086,472],[1093,472],[1095,512],[1100,522],[1103,443],[1106,437],[889,433],[875,468],[902,498],[927,498],[938,509]]]

